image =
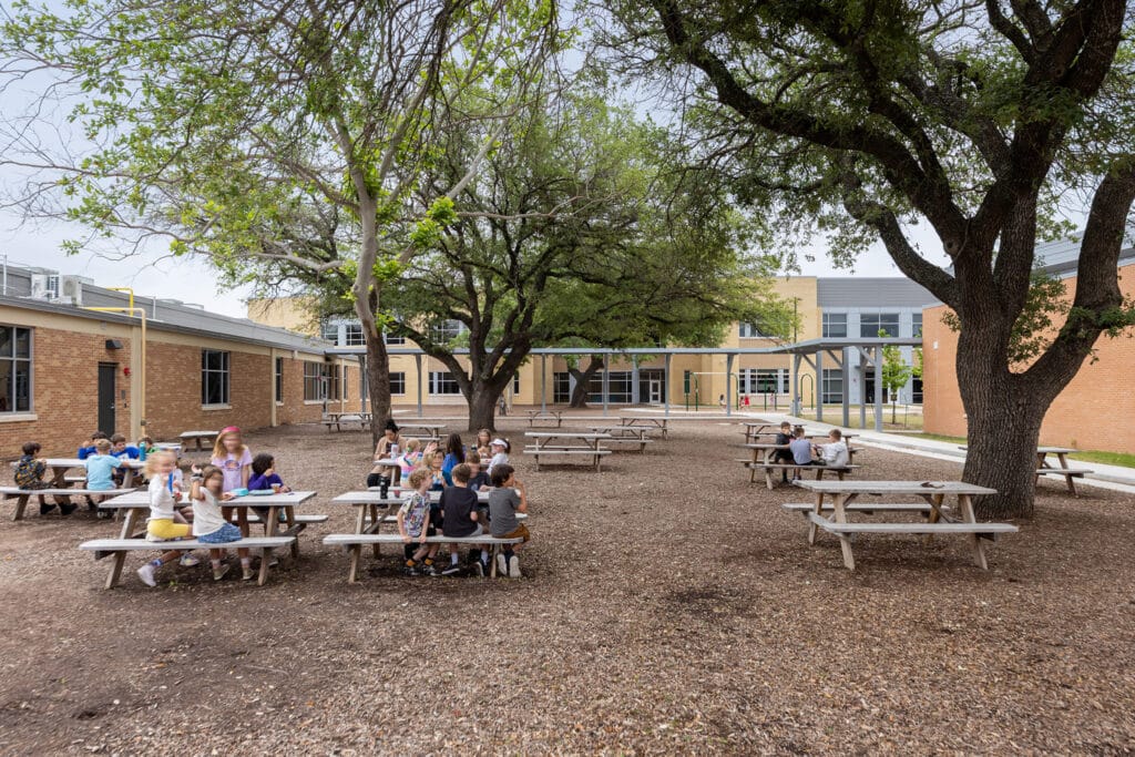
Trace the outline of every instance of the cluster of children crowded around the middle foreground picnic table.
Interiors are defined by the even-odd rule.
[[[506,546],[496,558],[499,574],[521,578],[516,550],[530,535],[516,515],[528,512],[528,496],[508,464],[510,448],[507,439],[493,438],[488,429],[481,429],[469,449],[457,434],[451,434],[443,448],[436,441],[422,447],[417,439],[410,439],[403,449],[397,424],[393,420],[387,422],[375,448],[376,465],[367,477],[367,486],[386,489],[397,476],[407,489],[397,515],[406,574],[453,575],[464,570],[456,544],[447,545],[449,564],[437,565],[439,545],[427,544],[426,539],[440,530],[446,537],[476,538],[487,533],[494,538],[523,539]],[[385,460],[397,461],[397,468],[377,464]],[[477,493],[482,488],[490,489],[488,506],[478,503]],[[440,491],[437,502],[431,502],[430,491]],[[489,556],[485,547],[474,547],[470,553],[469,562],[477,575],[489,572]]]

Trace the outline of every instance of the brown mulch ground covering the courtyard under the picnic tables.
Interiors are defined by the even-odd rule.
[[[135,553],[103,591],[106,565],[75,546],[116,523],[3,520],[0,752],[1135,749],[1135,497],[1042,482],[987,572],[961,538],[866,536],[851,573],[777,506],[802,493],[748,482],[740,440],[682,422],[602,474],[513,454],[535,538],[519,581],[407,578],[388,550],[348,586],[321,537],[352,529],[330,498],[361,488],[369,436],[322,427],[249,435],[320,493],[303,512],[331,515],[262,588],[205,563],[150,589]]]

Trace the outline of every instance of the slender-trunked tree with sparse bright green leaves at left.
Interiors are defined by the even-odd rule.
[[[137,246],[160,239],[230,278],[347,271],[380,419],[390,410],[382,287],[453,220],[452,197],[510,116],[499,103],[522,101],[557,43],[555,9],[547,0],[20,6],[0,42],[6,89],[54,72],[32,112],[74,98],[70,119],[91,144],[72,155],[65,141],[54,154],[35,124],[12,120],[5,160],[47,171],[19,199],[31,215]],[[455,124],[479,149],[453,184],[419,192]],[[61,208],[44,203],[51,188],[62,191]]]

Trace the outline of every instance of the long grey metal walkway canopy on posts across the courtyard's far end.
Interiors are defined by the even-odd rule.
[[[665,360],[665,381],[669,389],[670,386],[670,363],[674,355],[725,355],[725,414],[733,414],[733,399],[732,399],[732,388],[730,387],[730,381],[732,380],[733,373],[733,361],[740,355],[791,355],[792,356],[792,414],[799,415],[801,410],[800,404],[800,363],[806,362],[808,365],[816,371],[816,376],[823,378],[824,375],[824,355],[827,355],[836,368],[843,371],[843,426],[850,424],[851,411],[850,411],[850,380],[848,378],[848,372],[846,370],[846,364],[848,362],[848,350],[855,348],[859,353],[859,370],[863,371],[867,365],[872,365],[875,369],[876,380],[875,380],[875,430],[883,430],[883,347],[886,346],[897,347],[920,347],[920,337],[860,337],[860,338],[824,338],[824,339],[808,339],[805,342],[793,342],[792,344],[776,345],[773,347],[629,347],[629,348],[613,348],[613,347],[533,347],[529,351],[531,355],[538,355],[540,358],[540,409],[546,411],[548,406],[547,402],[547,359],[548,356],[572,356],[572,355],[603,355],[603,381],[604,381],[604,393],[603,393],[603,414],[606,415],[607,407],[607,368],[609,367],[609,360],[612,355],[619,358],[629,358],[632,361],[637,361],[640,356],[662,356]],[[365,371],[365,354],[367,347],[351,346],[351,347],[333,347],[326,351],[329,355],[359,355],[363,359],[362,368]],[[426,354],[422,350],[418,347],[387,347],[387,354],[389,355],[412,355],[418,369],[418,417],[422,417],[422,356]],[[459,347],[453,351],[454,355],[468,355],[468,347]],[[823,390],[819,393],[819,399],[816,403],[816,420],[824,420],[824,395]],[[665,401],[665,414],[670,415],[670,392],[663,392],[663,397]],[[365,397],[363,396],[361,402],[365,403]],[[365,407],[363,405],[363,407]],[[859,403],[859,426],[865,427],[867,423],[867,405],[864,402]]]

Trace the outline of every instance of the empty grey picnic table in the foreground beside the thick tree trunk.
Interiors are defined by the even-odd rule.
[[[788,503],[782,507],[807,513],[808,544],[816,542],[821,529],[834,533],[840,540],[843,565],[848,570],[855,570],[851,539],[857,533],[914,533],[927,538],[934,535],[967,535],[973,548],[974,564],[987,570],[985,540],[993,539],[999,533],[1017,531],[1017,527],[1011,523],[978,523],[974,515],[972,498],[976,495],[997,494],[997,490],[964,481],[797,481],[796,485],[815,494],[815,502],[810,507],[797,503]],[[852,503],[863,495],[914,496],[922,498],[926,504],[864,503],[854,507]],[[957,498],[960,520],[943,513],[948,496]],[[825,497],[831,499],[830,508],[824,506]],[[848,521],[849,512],[888,513],[911,510],[920,510],[926,516],[925,521],[922,523]],[[825,511],[832,513],[830,518],[824,516]]]

